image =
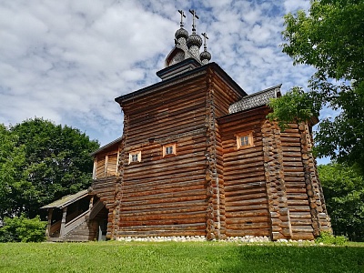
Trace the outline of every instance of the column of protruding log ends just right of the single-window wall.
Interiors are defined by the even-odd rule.
[[[272,240],[289,239],[292,238],[292,228],[284,180],[280,130],[277,124],[266,121],[262,126],[262,136],[271,238]]]

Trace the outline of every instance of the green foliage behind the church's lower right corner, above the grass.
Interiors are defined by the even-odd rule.
[[[364,177],[340,164],[320,165],[319,177],[335,235],[364,241]]]

